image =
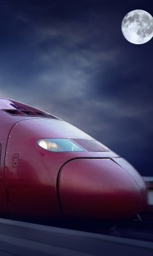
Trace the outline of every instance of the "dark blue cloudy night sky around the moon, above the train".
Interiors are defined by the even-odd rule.
[[[153,38],[128,42],[152,0],[0,0],[0,97],[47,111],[153,176]]]

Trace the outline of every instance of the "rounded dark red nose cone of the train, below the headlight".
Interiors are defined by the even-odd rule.
[[[145,184],[134,168],[133,172],[134,179],[112,159],[69,161],[58,180],[62,212],[70,218],[132,218],[146,203]]]

